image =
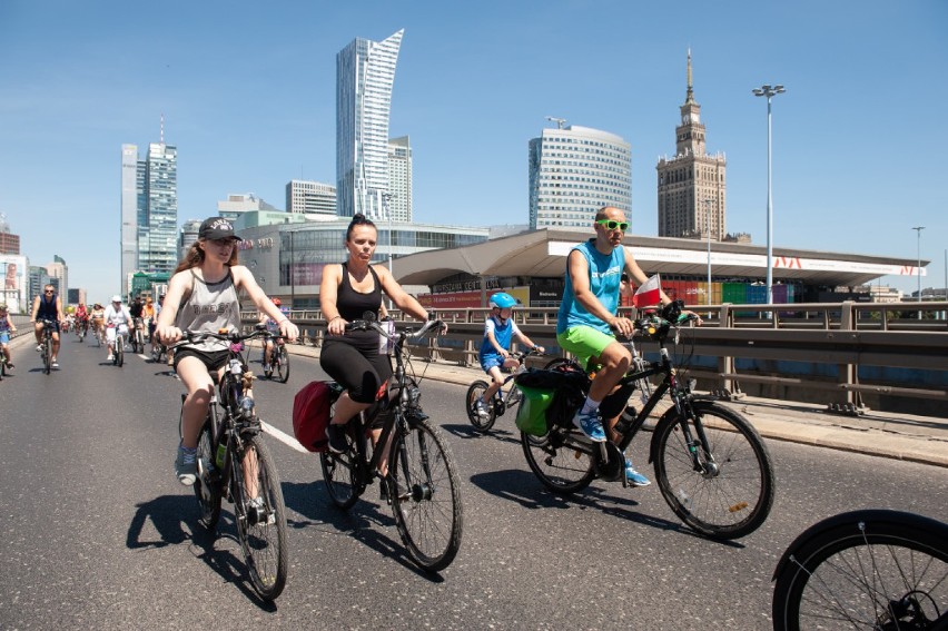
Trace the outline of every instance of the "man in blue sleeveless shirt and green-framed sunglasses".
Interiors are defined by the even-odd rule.
[[[590,393],[582,408],[573,417],[576,425],[590,440],[604,443],[606,432],[599,417],[599,405],[612,392],[632,361],[629,349],[616,342],[613,331],[631,336],[632,321],[616,315],[619,308],[620,279],[623,273],[638,283],[649,279],[632,252],[622,245],[629,228],[625,214],[619,208],[606,206],[595,215],[595,237],[570,250],[566,258],[566,282],[563,302],[556,318],[556,341],[560,347],[576,356],[581,365],[590,357],[598,357],[602,367],[593,377]],[[662,304],[671,299],[661,294]],[[612,433],[615,418],[608,418]],[[618,436],[613,436],[618,437]],[[651,484],[648,477],[635,471],[632,461],[625,459],[625,479],[633,486]]]

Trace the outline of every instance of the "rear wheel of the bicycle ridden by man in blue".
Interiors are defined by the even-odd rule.
[[[543,436],[521,432],[523,455],[533,474],[550,491],[570,494],[582,491],[595,477],[595,462],[587,441],[576,441],[579,431],[552,427]]]

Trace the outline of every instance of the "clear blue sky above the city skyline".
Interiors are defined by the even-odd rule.
[[[0,211],[33,265],[119,288],[124,142],[178,147],[179,220],[231,193],[278,208],[335,183],[335,56],[405,29],[389,132],[411,136],[417,221],[525,224],[526,147],[551,125],[632,145],[632,231],[658,231],[693,56],[708,149],[728,158],[727,228],[774,247],[931,260],[945,284],[948,2],[0,0]],[[142,149],[144,150],[144,149]],[[915,278],[883,278],[914,290]]]

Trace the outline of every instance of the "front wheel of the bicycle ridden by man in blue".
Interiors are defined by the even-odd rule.
[[[681,418],[665,416],[652,438],[659,489],[678,517],[713,539],[738,539],[757,530],[773,505],[773,464],[757,430],[739,413],[711,401],[692,408],[708,438],[701,448],[694,418],[685,444]],[[672,408],[674,410],[674,408]],[[692,460],[692,450],[699,470]]]

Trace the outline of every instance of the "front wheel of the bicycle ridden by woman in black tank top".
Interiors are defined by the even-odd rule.
[[[407,421],[388,460],[388,497],[398,534],[422,569],[447,568],[461,548],[464,514],[454,456],[427,420]]]

